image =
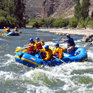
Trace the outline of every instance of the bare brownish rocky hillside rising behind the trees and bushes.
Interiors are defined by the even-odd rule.
[[[90,0],[90,3],[91,14],[93,0]],[[26,14],[30,18],[73,17],[74,0],[27,0]]]

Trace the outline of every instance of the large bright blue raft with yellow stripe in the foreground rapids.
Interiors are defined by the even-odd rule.
[[[63,54],[64,57],[61,60],[59,60],[57,57],[53,57],[53,59],[51,59],[50,61],[42,61],[40,53],[33,56],[28,53],[19,51],[15,55],[15,60],[29,67],[38,67],[40,65],[56,66],[64,62],[84,62],[87,60],[87,53],[84,48],[76,47],[70,54],[66,52],[64,52]]]

